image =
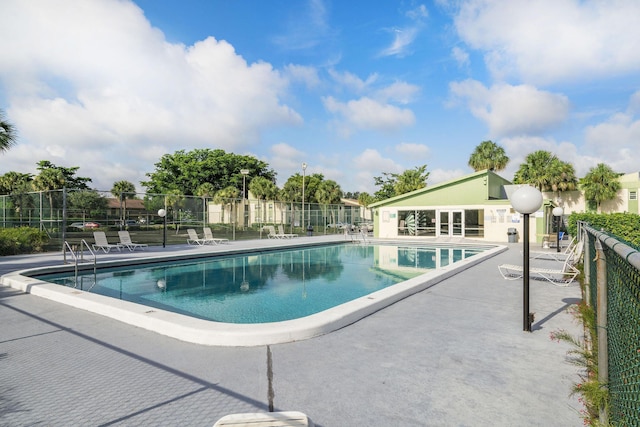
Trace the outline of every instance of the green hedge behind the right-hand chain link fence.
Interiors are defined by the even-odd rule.
[[[577,233],[577,222],[585,221],[596,230],[614,235],[632,246],[640,247],[640,215],[632,213],[572,213],[569,215],[569,234]]]

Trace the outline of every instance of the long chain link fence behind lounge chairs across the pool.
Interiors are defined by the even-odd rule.
[[[47,233],[47,249],[64,241],[93,239],[95,230],[116,238],[129,230],[141,243],[162,244],[166,211],[167,244],[185,243],[188,228],[210,227],[216,237],[230,240],[266,237],[265,225],[282,225],[288,233],[342,233],[344,224],[370,226],[371,212],[345,204],[259,199],[217,199],[179,194],[55,190],[0,196],[0,227],[33,227]]]

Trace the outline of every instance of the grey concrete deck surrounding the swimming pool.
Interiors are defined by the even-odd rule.
[[[314,242],[336,237],[299,238]],[[344,239],[342,236],[338,240]],[[238,241],[225,247],[279,245]],[[128,258],[112,253],[100,259]],[[185,343],[0,287],[0,425],[211,426],[236,412],[295,410],[318,426],[578,426],[578,370],[549,333],[581,328],[577,284],[522,283],[497,265],[520,245],[338,331],[288,344]],[[4,257],[0,274],[59,265],[61,254]],[[270,398],[269,396],[273,396]]]

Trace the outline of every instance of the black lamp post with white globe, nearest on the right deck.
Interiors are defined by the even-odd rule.
[[[511,195],[511,206],[524,217],[523,230],[523,259],[522,259],[522,305],[523,330],[531,332],[533,315],[529,313],[529,214],[536,212],[542,206],[542,193],[537,188],[524,186]]]

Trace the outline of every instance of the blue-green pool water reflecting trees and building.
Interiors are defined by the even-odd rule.
[[[268,323],[327,310],[483,250],[340,244],[38,278],[206,320]]]

